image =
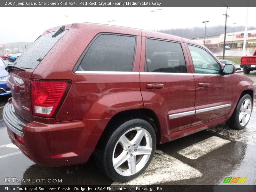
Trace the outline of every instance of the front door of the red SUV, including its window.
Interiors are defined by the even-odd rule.
[[[219,62],[205,49],[188,44],[196,83],[196,114],[192,125],[229,114],[233,82],[221,75]]]

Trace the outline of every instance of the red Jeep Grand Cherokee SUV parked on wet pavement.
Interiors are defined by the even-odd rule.
[[[227,122],[248,123],[254,86],[203,45],[100,24],[43,33],[6,69],[10,139],[37,164],[85,163],[94,154],[116,181],[140,175],[156,144]]]

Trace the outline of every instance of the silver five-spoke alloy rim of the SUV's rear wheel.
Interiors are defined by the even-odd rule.
[[[115,171],[122,176],[139,172],[147,164],[152,146],[152,137],[146,129],[135,127],[125,132],[113,151],[112,163]]]

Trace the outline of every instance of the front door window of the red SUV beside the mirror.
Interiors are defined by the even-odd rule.
[[[220,74],[220,65],[219,63],[202,48],[188,45],[195,73],[203,74]]]

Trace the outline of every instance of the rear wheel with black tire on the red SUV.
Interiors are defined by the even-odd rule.
[[[110,137],[106,135],[97,146],[95,160],[110,179],[126,182],[145,171],[156,149],[156,133],[151,124],[132,119],[114,128]]]

